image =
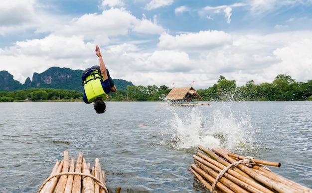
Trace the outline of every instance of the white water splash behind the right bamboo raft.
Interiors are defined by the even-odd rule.
[[[209,107],[208,107],[209,108]],[[222,106],[202,114],[199,107],[170,107],[174,119],[169,126],[173,135],[171,146],[177,149],[203,145],[206,148],[234,149],[248,141],[245,132],[251,128],[246,116],[234,117],[230,106]]]

